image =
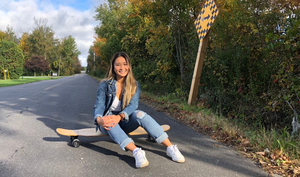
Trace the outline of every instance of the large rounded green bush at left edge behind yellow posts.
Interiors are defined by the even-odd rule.
[[[22,50],[13,41],[0,41],[0,79],[4,79],[3,68],[7,68],[10,79],[19,79],[23,73]]]

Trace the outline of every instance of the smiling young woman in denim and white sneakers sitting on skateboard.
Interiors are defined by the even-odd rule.
[[[161,126],[143,111],[136,110],[140,99],[140,84],[134,79],[131,63],[125,52],[113,55],[106,77],[101,81],[94,106],[96,131],[100,131],[133,153],[136,167],[149,164],[145,151],[137,148],[127,136],[139,126],[167,148],[167,155],[176,162],[184,162],[176,145],[172,145]]]

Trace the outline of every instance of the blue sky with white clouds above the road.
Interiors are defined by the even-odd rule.
[[[93,16],[95,7],[107,3],[106,0],[0,0],[0,30],[13,27],[19,37],[22,32],[35,28],[33,18],[48,19],[55,37],[71,35],[75,38],[81,54],[82,66],[87,66],[88,49],[94,41],[94,27],[99,25]]]

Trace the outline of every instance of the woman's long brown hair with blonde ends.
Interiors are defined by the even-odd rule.
[[[116,80],[117,77],[116,77],[116,72],[114,71],[114,63],[118,57],[124,57],[129,68],[128,74],[127,76],[125,76],[124,83],[123,83],[124,96],[123,96],[122,109],[124,109],[126,108],[126,106],[128,106],[131,98],[133,97],[137,89],[136,80],[134,79],[134,76],[132,74],[131,62],[128,55],[125,52],[117,52],[116,54],[113,55],[110,61],[110,67],[108,68],[106,76],[102,80],[102,82],[108,80],[112,80],[111,82],[113,82],[113,79]]]

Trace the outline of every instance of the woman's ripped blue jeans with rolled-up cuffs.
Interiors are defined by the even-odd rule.
[[[112,111],[109,115],[118,115],[119,112]],[[120,145],[120,148],[125,150],[125,147],[129,143],[134,143],[134,141],[128,137],[128,133],[133,132],[139,126],[143,127],[146,132],[155,139],[157,143],[163,142],[168,135],[161,126],[149,115],[143,111],[136,110],[129,116],[129,121],[120,121],[115,127],[110,130],[106,130],[100,126],[100,131],[104,135],[110,135],[110,137],[117,144]]]

